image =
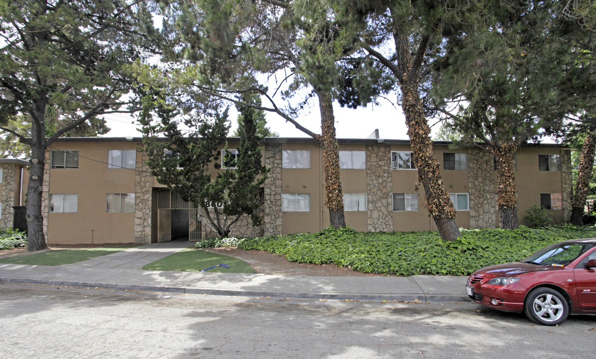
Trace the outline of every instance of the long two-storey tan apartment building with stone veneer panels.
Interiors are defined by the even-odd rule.
[[[417,184],[409,141],[339,139],[346,223],[359,231],[436,230]],[[229,138],[229,148],[238,138]],[[434,142],[445,188],[464,228],[498,227],[493,155],[477,148],[452,151]],[[44,230],[50,244],[149,243],[215,233],[200,210],[151,176],[140,138],[61,138],[46,154]],[[314,139],[266,138],[270,168],[263,192],[263,225],[249,218],[234,236],[317,232],[329,226],[324,206],[322,150]],[[555,223],[570,214],[570,151],[559,145],[527,145],[517,152],[519,217],[546,205]],[[416,191],[416,187],[418,192]],[[4,192],[3,192],[4,193]]]

